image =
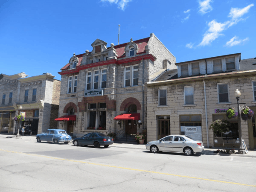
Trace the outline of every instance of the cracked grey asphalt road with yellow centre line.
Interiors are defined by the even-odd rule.
[[[1,192],[254,192],[256,158],[0,138]]]

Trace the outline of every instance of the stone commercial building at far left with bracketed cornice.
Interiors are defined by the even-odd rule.
[[[18,123],[14,117],[21,113],[26,119],[22,126],[30,126],[29,134],[57,128],[61,82],[50,73],[27,77],[25,73],[12,76],[0,74],[0,131],[15,134]],[[20,105],[22,110],[20,110]],[[17,125],[16,125],[17,124]]]

